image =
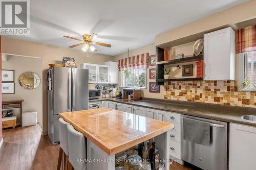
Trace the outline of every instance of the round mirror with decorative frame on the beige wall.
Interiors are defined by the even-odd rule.
[[[25,89],[35,89],[40,84],[40,78],[34,72],[24,72],[19,76],[18,82]]]

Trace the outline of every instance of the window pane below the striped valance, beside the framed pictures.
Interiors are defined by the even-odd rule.
[[[122,87],[146,88],[146,68],[123,70]]]

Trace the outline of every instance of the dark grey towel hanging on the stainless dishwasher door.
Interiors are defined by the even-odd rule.
[[[208,147],[210,123],[183,117],[183,139]]]

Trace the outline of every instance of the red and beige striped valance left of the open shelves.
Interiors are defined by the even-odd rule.
[[[149,53],[124,58],[118,61],[119,71],[125,69],[148,68]]]

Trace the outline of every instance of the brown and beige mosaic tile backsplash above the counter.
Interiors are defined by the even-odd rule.
[[[165,82],[164,99],[256,107],[256,92],[239,91],[238,82],[229,80]]]

